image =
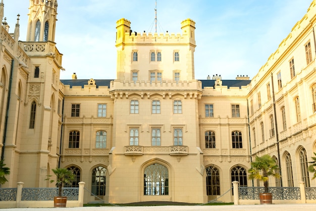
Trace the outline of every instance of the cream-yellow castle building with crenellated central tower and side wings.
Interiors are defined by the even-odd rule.
[[[57,166],[86,183],[84,203],[233,200],[231,183],[251,160],[272,155],[282,179],[315,187],[316,2],[250,80],[194,77],[195,22],[181,33],[136,33],[116,23],[116,79],[60,79],[57,0],[30,0],[27,40],[0,27],[3,187],[54,187]],[[4,17],[3,0],[0,18]],[[295,61],[295,66],[294,66]],[[261,184],[262,185],[262,184]]]

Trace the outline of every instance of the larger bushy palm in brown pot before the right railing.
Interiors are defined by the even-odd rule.
[[[269,176],[280,178],[279,166],[275,159],[270,155],[263,155],[261,157],[256,156],[255,160],[251,162],[251,168],[248,170],[249,179],[259,180],[264,182],[265,191],[259,193],[260,204],[271,204],[272,193],[269,193],[268,180]]]

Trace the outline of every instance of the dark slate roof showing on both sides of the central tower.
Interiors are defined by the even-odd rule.
[[[95,79],[96,87],[109,87],[110,81],[114,79]],[[74,80],[61,80],[64,85],[70,85],[70,88],[73,86],[81,86],[84,88],[84,85],[88,85],[89,79],[74,79]],[[215,80],[200,80],[202,82],[202,89],[204,87],[214,87]],[[222,86],[230,87],[239,87],[247,86],[251,80],[222,80]]]

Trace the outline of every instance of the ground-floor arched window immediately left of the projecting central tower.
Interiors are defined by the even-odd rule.
[[[91,193],[96,196],[106,195],[106,172],[107,168],[97,166],[92,170]]]

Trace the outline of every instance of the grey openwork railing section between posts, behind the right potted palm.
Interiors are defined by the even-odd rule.
[[[239,199],[259,199],[264,187],[239,187]],[[269,193],[275,200],[300,200],[300,189],[297,187],[269,187]]]

